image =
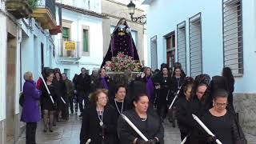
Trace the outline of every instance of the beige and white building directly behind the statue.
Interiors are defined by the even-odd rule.
[[[120,18],[126,18],[128,25],[131,28],[131,34],[134,39],[134,44],[138,50],[138,56],[140,61],[145,60],[145,42],[144,37],[146,34],[144,32],[144,24],[139,22],[132,22],[130,20],[129,10],[127,4],[130,1],[125,0],[102,0],[102,14],[106,14],[107,18],[103,19],[102,30],[103,30],[103,51],[104,56],[110,46],[110,35],[112,34],[114,27],[117,26]],[[139,3],[136,3],[138,5]],[[137,6],[136,6],[137,7]],[[141,16],[144,14],[144,10],[135,9],[134,16]]]

